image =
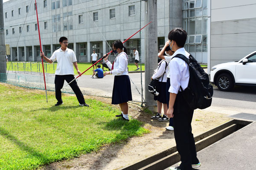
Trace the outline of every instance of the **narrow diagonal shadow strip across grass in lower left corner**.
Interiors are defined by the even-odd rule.
[[[31,156],[36,157],[41,162],[47,162],[48,161],[47,156],[45,156],[42,153],[39,153],[38,151],[36,151],[32,147],[29,147],[27,144],[25,144],[23,142],[20,142],[20,140],[17,139],[17,137],[11,135],[6,129],[4,129],[2,127],[0,127],[0,135],[5,137],[6,139],[9,139],[9,141],[14,143],[17,147],[19,147],[20,150],[24,150],[25,152],[27,152]]]

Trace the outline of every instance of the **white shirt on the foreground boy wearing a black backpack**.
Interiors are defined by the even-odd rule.
[[[179,48],[177,51],[175,51],[172,57],[177,54],[183,54],[185,57],[189,58],[189,53],[185,50],[185,48]],[[175,57],[169,62],[169,68],[171,84],[169,92],[178,94],[180,86],[184,90],[189,85],[189,66],[183,59]]]

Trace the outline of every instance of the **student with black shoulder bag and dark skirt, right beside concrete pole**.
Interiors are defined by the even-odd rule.
[[[151,116],[151,119],[157,119],[158,121],[168,121],[169,118],[166,116],[167,112],[167,97],[166,97],[166,76],[168,72],[168,62],[162,59],[157,66],[157,69],[154,71],[151,80],[158,79],[156,86],[156,91],[159,93],[157,96],[154,95],[154,100],[157,100],[157,113],[154,116]],[[163,116],[162,116],[162,106],[163,106]]]

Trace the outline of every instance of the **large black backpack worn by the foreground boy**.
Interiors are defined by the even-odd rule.
[[[188,88],[183,90],[180,86],[186,102],[193,110],[208,108],[212,104],[213,94],[213,87],[209,83],[208,74],[204,72],[204,69],[191,54],[189,59],[182,54],[177,54],[174,57],[183,59],[189,65]]]

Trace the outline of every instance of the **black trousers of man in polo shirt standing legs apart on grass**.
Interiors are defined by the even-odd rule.
[[[75,79],[74,75],[69,74],[69,75],[55,75],[55,97],[58,100],[58,102],[62,102],[61,99],[61,88],[63,88],[64,85],[64,80],[66,80],[67,83],[71,82],[73,79]],[[78,99],[80,104],[84,104],[84,96],[80,90],[80,88],[78,87],[76,81],[73,81],[72,83],[70,83],[70,87],[72,88],[72,90],[74,91],[74,93],[76,94],[76,98]]]

